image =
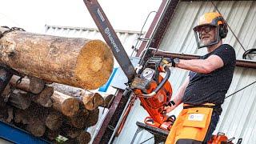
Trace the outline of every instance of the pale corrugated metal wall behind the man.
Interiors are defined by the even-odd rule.
[[[234,34],[242,42],[242,46],[246,50],[256,47],[256,2],[254,1],[218,1],[214,2],[220,12],[224,15],[229,23]],[[183,54],[206,54],[206,49],[197,49],[194,32],[192,28],[196,25],[198,18],[210,11],[214,10],[211,2],[180,2],[175,11],[174,18],[170,22],[164,38],[160,44],[159,49],[168,50],[174,53]],[[229,32],[224,43],[229,43],[234,46],[238,59],[242,59],[244,50],[238,44],[234,35]],[[253,61],[256,57],[253,57]],[[181,86],[182,82],[188,75],[186,70],[173,69],[170,77],[174,93]],[[237,67],[234,71],[234,78],[230,86],[228,94],[234,93],[236,90],[249,85],[256,81],[256,70]],[[225,133],[229,138],[235,137],[234,142],[238,138],[243,138],[242,143],[254,144],[256,143],[256,84],[247,87],[245,90],[234,94],[230,98],[226,98],[222,105],[223,112],[218,122],[217,132]],[[174,111],[178,114],[181,106]],[[136,122],[143,121],[145,118],[145,110],[142,112],[139,105],[135,105],[133,111],[130,113],[126,121],[125,129],[122,130],[114,143],[130,143],[137,128]],[[134,120],[135,119],[135,120]],[[138,134],[134,143],[141,143],[152,135],[142,132]],[[154,143],[151,139],[145,143]]]

